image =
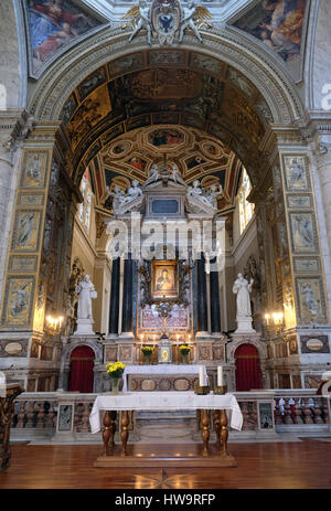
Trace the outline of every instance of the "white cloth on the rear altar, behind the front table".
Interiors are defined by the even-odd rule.
[[[127,365],[122,373],[122,392],[128,392],[128,382],[127,376],[129,374],[146,374],[150,376],[156,376],[160,374],[170,375],[185,375],[185,374],[196,374],[199,377],[199,368],[200,365],[194,364],[157,364],[157,365]],[[205,365],[203,365],[204,379],[206,379],[207,373]]]

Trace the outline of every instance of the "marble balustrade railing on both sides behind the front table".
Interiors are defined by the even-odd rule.
[[[96,395],[65,392],[21,394],[14,404],[11,439],[33,443],[102,441],[102,434],[92,435],[89,427]],[[229,433],[234,440],[273,439],[279,433],[331,436],[330,397],[317,396],[314,390],[263,390],[235,392],[234,395],[243,413],[243,429]],[[130,439],[138,440],[134,413],[129,428]]]

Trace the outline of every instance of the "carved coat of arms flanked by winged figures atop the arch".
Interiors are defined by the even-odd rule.
[[[130,25],[132,29],[129,43],[141,29],[146,29],[148,44],[157,40],[160,46],[181,43],[186,29],[191,29],[202,43],[200,29],[203,25],[212,26],[210,11],[203,6],[195,6],[193,1],[183,7],[179,0],[153,0],[149,7],[146,0],[140,0],[122,19],[128,20],[124,28]]]

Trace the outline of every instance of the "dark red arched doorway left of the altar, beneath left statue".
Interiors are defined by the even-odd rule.
[[[75,348],[71,354],[70,391],[93,392],[94,351],[87,345]]]

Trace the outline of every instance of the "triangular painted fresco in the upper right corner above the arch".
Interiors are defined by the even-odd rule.
[[[239,18],[237,26],[289,62],[300,54],[307,0],[261,0]]]

